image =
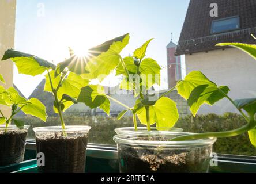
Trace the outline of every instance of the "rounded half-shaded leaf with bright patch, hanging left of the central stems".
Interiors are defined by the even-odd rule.
[[[97,108],[106,101],[104,87],[100,85],[88,85],[81,89],[77,98],[78,102],[84,102],[91,109]]]

